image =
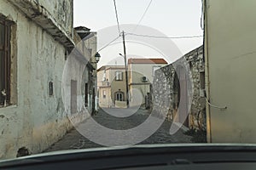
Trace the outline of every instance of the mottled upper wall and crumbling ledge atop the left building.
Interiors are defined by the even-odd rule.
[[[4,0],[3,0],[4,1]],[[44,1],[42,1],[44,2]],[[41,3],[42,3],[41,2]],[[34,0],[9,0],[16,8],[16,11],[22,12],[27,18],[34,21],[38,26],[44,28],[58,42],[61,42],[66,48],[73,48],[73,0],[47,1],[50,5],[38,3]],[[69,3],[68,3],[69,2]],[[56,3],[68,3],[65,8],[57,8]],[[59,5],[60,6],[60,5]],[[56,8],[55,8],[56,7]],[[68,13],[72,11],[72,13]],[[62,16],[65,17],[62,17]],[[66,19],[66,21],[61,21]]]

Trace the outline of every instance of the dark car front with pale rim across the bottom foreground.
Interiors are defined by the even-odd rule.
[[[256,146],[150,144],[66,150],[0,161],[0,169],[256,169]]]

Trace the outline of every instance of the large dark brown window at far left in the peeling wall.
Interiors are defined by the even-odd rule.
[[[10,27],[0,16],[0,105],[10,103]]]

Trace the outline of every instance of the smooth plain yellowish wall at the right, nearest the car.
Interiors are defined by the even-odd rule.
[[[256,1],[205,0],[207,140],[256,142]]]

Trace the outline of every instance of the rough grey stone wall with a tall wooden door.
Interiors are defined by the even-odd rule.
[[[203,48],[185,54],[155,71],[154,111],[190,128],[206,128],[205,64]],[[190,83],[189,83],[189,80]],[[183,100],[183,106],[179,107]],[[187,115],[186,112],[189,114]]]

